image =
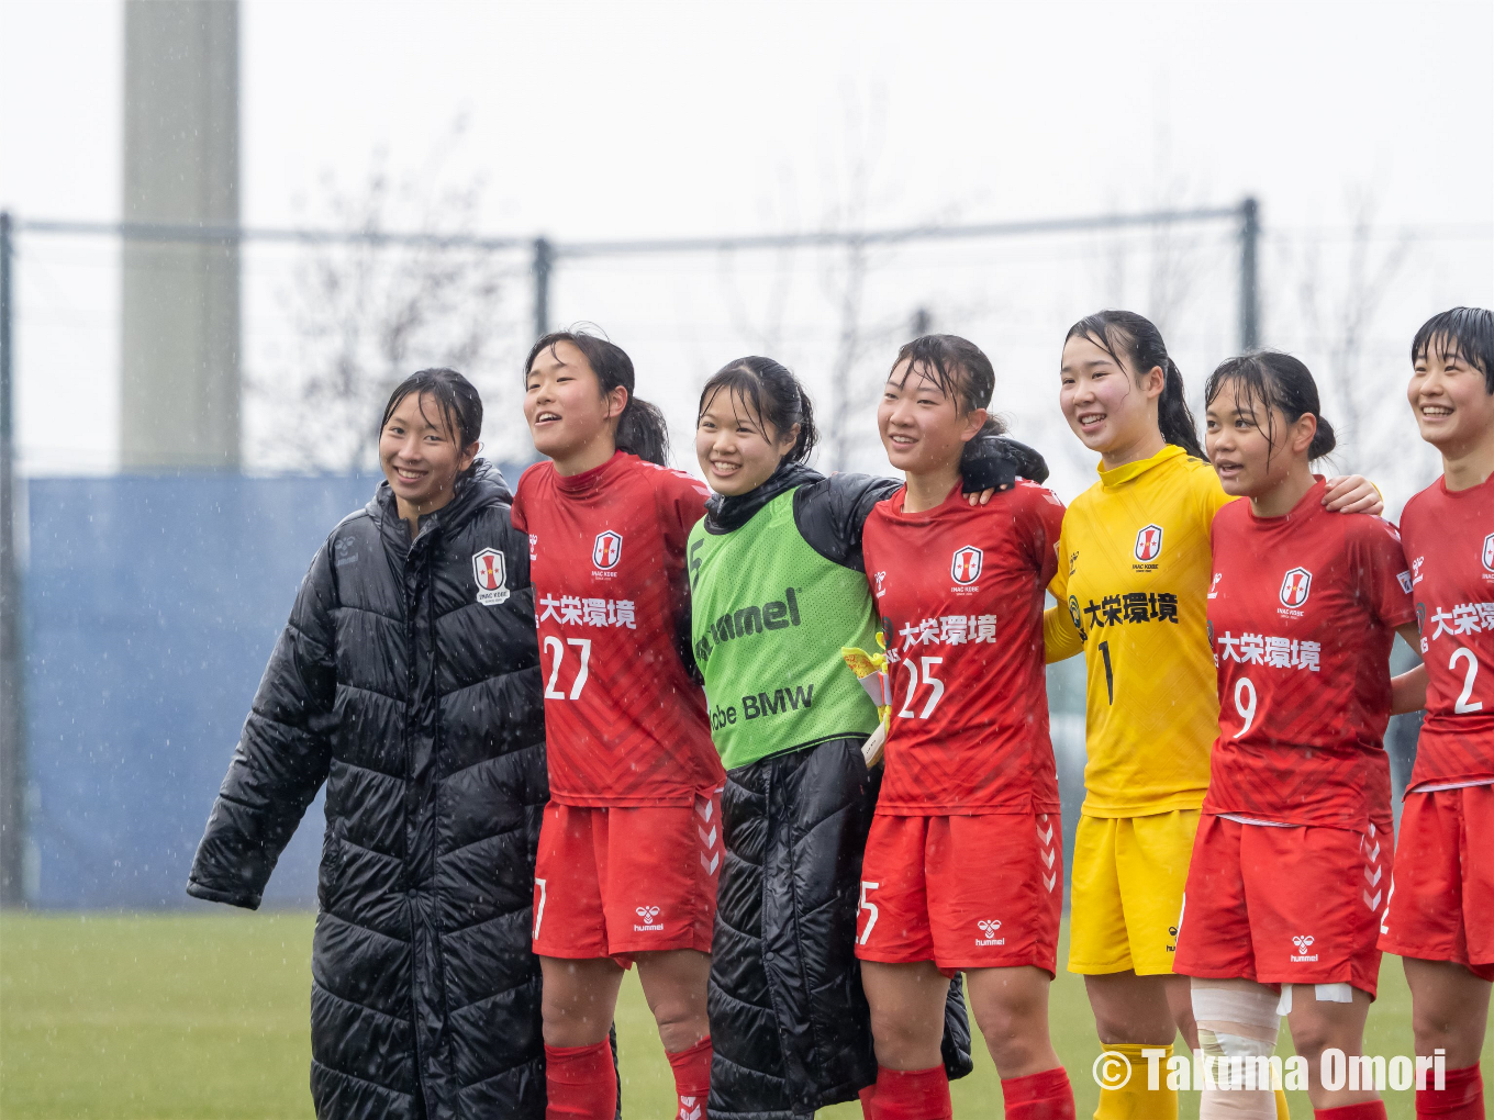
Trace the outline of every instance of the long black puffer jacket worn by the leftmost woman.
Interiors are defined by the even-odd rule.
[[[193,862],[190,895],[258,906],[327,783],[311,996],[324,1120],[545,1111],[529,950],[544,709],[508,508],[478,463],[414,542],[387,484],[333,530]]]

